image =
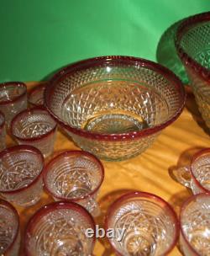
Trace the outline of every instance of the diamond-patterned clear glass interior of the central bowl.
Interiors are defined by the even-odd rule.
[[[154,127],[181,108],[176,83],[135,61],[66,72],[47,88],[46,99],[48,109],[66,125],[101,134]]]

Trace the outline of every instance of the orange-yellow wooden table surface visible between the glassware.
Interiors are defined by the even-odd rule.
[[[29,89],[36,83],[28,83]],[[209,133],[201,116],[197,112],[197,106],[192,94],[187,97],[186,108],[181,116],[172,125],[168,126],[155,143],[138,157],[113,163],[104,162],[105,179],[98,196],[102,216],[96,219],[96,223],[103,225],[103,218],[113,200],[130,189],[138,189],[159,195],[168,201],[177,214],[180,205],[192,193],[181,184],[171,179],[170,170],[177,165],[189,163],[193,153],[203,147],[209,147]],[[7,138],[8,146],[14,144]],[[78,149],[71,138],[64,135],[60,130],[55,141],[55,153],[63,150]],[[39,203],[29,208],[18,207],[22,232],[29,217],[42,205],[50,203],[52,198],[43,193]],[[113,255],[106,239],[98,240],[94,249],[97,256]],[[21,253],[23,255],[23,253]],[[181,255],[178,248],[174,248],[170,255]]]

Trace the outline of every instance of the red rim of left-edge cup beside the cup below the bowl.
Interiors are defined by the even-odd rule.
[[[28,184],[27,186],[24,186],[23,188],[19,188],[19,189],[8,190],[8,191],[0,189],[0,193],[2,193],[3,195],[16,194],[16,193],[24,191],[25,189],[29,189],[32,185],[34,185],[40,179],[40,177],[43,174],[43,170],[45,168],[44,156],[39,151],[39,149],[36,147],[29,146],[29,145],[17,145],[17,146],[13,146],[13,147],[8,147],[8,148],[4,149],[2,152],[0,152],[0,159],[3,156],[5,156],[11,152],[18,152],[19,150],[22,150],[25,152],[34,152],[37,156],[40,157],[40,162],[42,163],[42,168],[41,168],[39,174],[35,177],[35,179],[33,179],[33,181],[30,184]]]

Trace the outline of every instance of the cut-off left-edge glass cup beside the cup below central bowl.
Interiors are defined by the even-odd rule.
[[[44,157],[35,147],[15,146],[0,152],[0,196],[27,207],[39,201],[43,191]]]

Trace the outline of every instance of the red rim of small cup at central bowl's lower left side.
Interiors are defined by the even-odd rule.
[[[21,116],[24,116],[24,115],[36,115],[36,112],[39,112],[39,111],[45,112],[46,115],[49,115],[49,112],[47,111],[47,109],[45,109],[45,107],[39,106],[39,107],[31,108],[31,109],[24,109],[23,111],[19,112],[17,115],[15,115],[13,117],[13,120],[11,121],[11,125],[10,125],[10,133],[12,134],[12,136],[16,140],[18,140],[18,141],[38,141],[38,140],[44,139],[47,136],[50,136],[51,134],[53,134],[55,132],[55,130],[57,128],[57,124],[56,124],[55,120],[51,117],[51,115],[49,115],[50,119],[55,122],[55,125],[54,125],[54,127],[50,131],[46,132],[45,134],[42,134],[42,135],[39,135],[39,136],[35,136],[35,137],[31,137],[31,138],[23,138],[21,136],[18,136],[16,134],[14,134],[15,124],[18,122],[18,119]]]

